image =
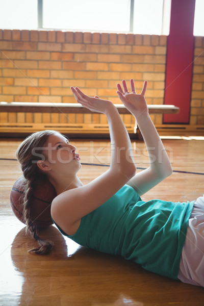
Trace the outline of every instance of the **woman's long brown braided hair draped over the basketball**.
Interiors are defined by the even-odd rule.
[[[32,220],[31,216],[31,207],[33,203],[32,196],[35,187],[42,182],[48,181],[46,174],[43,173],[37,166],[37,161],[40,160],[40,158],[41,160],[45,159],[42,154],[43,145],[45,144],[50,135],[56,133],[59,132],[46,130],[33,133],[29,137],[25,138],[16,150],[16,158],[20,163],[20,167],[25,179],[23,183],[23,217],[24,222],[27,225],[26,233],[27,235],[34,238],[39,244],[39,247],[31,249],[29,250],[29,252],[36,254],[47,254],[53,248],[52,241],[41,239],[38,236],[37,227],[33,223],[34,220]]]

